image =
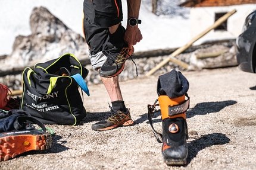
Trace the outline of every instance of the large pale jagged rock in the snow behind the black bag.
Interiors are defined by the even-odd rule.
[[[4,66],[0,71],[33,66],[65,53],[73,53],[77,58],[88,56],[88,46],[83,37],[70,30],[48,9],[34,8],[30,15],[30,27],[32,34],[16,37],[13,53],[0,60],[0,65]]]

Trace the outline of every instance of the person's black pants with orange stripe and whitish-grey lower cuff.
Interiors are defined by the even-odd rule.
[[[110,39],[108,27],[123,20],[121,0],[84,0],[83,14],[83,33],[90,50],[89,59],[97,70],[107,59],[102,50],[103,44]]]

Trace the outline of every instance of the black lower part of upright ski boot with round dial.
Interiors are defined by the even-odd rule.
[[[185,165],[188,157],[188,129],[183,117],[163,120],[162,155],[167,165]]]

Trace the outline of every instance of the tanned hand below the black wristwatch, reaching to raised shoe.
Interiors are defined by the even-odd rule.
[[[133,49],[133,46],[142,40],[141,30],[138,25],[131,27],[127,24],[126,32],[124,33],[124,41],[128,44],[129,49]]]

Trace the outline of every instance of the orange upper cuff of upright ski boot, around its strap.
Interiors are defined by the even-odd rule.
[[[185,95],[177,98],[169,98],[167,95],[160,95],[158,97],[158,101],[161,108],[162,120],[164,120],[165,118],[176,118],[176,117],[183,117],[184,119],[186,119],[186,113],[176,114],[174,116],[169,116],[168,114],[169,105],[173,107],[174,105],[181,104],[183,101],[185,101]]]

